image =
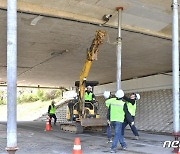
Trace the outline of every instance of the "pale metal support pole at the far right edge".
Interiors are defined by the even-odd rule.
[[[172,67],[173,67],[173,129],[175,140],[180,136],[179,132],[179,27],[178,27],[178,1],[173,0],[172,21]],[[178,152],[178,148],[174,149]]]

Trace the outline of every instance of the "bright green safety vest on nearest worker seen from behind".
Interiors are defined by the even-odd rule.
[[[125,112],[124,112],[124,104],[122,100],[108,99],[106,104],[111,105],[110,110],[110,121],[124,122]]]

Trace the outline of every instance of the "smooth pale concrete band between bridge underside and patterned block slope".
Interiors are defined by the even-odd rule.
[[[124,90],[124,92],[143,92],[143,91],[171,89],[171,88],[172,88],[171,75],[160,74],[160,75],[122,81],[122,89]],[[109,90],[115,93],[116,82],[100,85],[94,88],[94,92],[96,95],[102,95],[105,90]]]

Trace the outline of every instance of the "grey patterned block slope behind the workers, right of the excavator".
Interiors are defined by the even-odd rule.
[[[141,99],[137,103],[135,124],[138,130],[152,132],[173,132],[172,90],[154,90],[140,92]],[[107,108],[103,96],[97,97],[100,116],[104,117]]]

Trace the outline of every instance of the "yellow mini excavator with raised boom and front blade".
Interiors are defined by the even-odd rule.
[[[68,122],[61,123],[60,129],[75,133],[82,133],[86,127],[106,126],[107,120],[100,118],[97,113],[97,101],[85,101],[84,94],[87,86],[94,87],[97,81],[86,81],[94,60],[97,60],[99,45],[103,43],[105,31],[97,30],[90,49],[87,51],[87,58],[80,74],[80,81],[75,82],[76,94],[74,99],[68,102],[66,118]],[[94,88],[92,88],[94,89]],[[75,98],[76,97],[76,98]]]

